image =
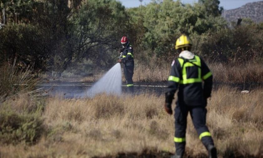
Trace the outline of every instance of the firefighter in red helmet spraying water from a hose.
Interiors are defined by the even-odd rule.
[[[119,50],[121,54],[118,62],[123,63],[123,72],[126,79],[126,86],[128,87],[128,91],[130,93],[134,92],[133,88],[133,70],[134,70],[134,59],[133,59],[133,48],[130,44],[130,41],[127,36],[123,36],[121,38],[121,48]]]

